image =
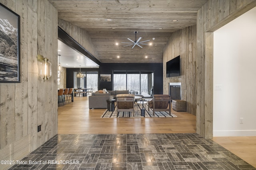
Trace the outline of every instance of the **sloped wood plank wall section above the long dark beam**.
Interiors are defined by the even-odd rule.
[[[70,37],[76,40],[76,42],[78,42],[82,47],[84,47],[84,49],[86,49],[96,59],[98,59],[98,61],[100,61],[100,59],[98,58],[98,53],[92,43],[92,39],[90,38],[88,31],[60,18],[58,19],[58,24],[59,27],[61,27],[68,35],[70,35]]]

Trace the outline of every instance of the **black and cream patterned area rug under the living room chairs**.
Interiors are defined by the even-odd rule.
[[[134,104],[134,113],[133,112],[124,112],[120,111],[118,114],[118,117],[144,117],[141,116],[141,104]],[[176,115],[172,114],[169,115],[169,111],[155,111],[155,115],[153,115],[153,109],[148,110],[148,104],[144,104],[145,109],[145,117],[177,117]],[[115,110],[114,111],[108,111],[106,109],[104,113],[101,115],[101,117],[117,117],[116,113],[116,104],[115,104]]]

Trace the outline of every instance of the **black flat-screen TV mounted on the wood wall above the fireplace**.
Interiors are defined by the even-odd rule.
[[[180,76],[180,56],[166,62],[166,77]]]

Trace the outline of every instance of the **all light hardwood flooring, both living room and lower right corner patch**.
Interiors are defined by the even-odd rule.
[[[89,109],[88,97],[58,107],[58,134],[196,133],[196,116],[176,112],[170,118],[101,118],[106,109]],[[256,137],[214,137],[216,143],[256,167]]]

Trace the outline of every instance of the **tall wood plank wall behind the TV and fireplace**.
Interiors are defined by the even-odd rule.
[[[166,78],[166,62],[180,55],[181,75]],[[196,25],[180,29],[169,38],[163,53],[164,94],[169,94],[170,82],[181,82],[182,100],[187,102],[187,111],[196,115]]]

